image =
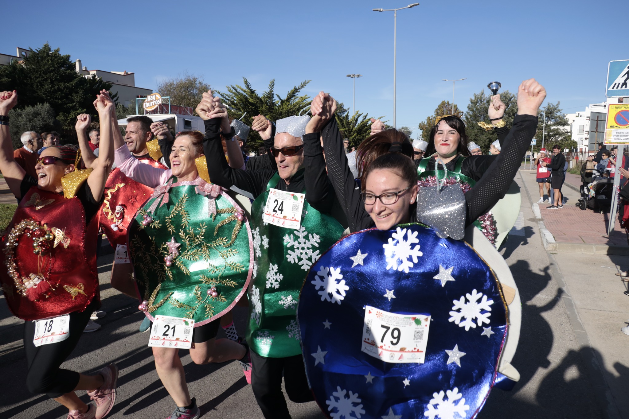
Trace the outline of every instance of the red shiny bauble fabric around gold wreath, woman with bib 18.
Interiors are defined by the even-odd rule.
[[[38,193],[45,205],[36,209],[31,199],[33,193]],[[41,204],[41,201],[40,201]],[[98,274],[96,269],[96,238],[98,233],[98,216],[86,225],[86,215],[81,201],[74,197],[65,199],[58,193],[46,192],[36,187],[31,188],[19,202],[18,209],[9,224],[8,234],[13,227],[22,220],[33,219],[41,225],[65,229],[65,237],[69,238],[69,245],[64,248],[60,243],[56,248],[50,246],[50,253],[42,259],[33,253],[33,238],[21,234],[18,244],[14,248],[13,260],[16,262],[20,277],[28,278],[31,273],[42,271],[48,275],[48,284],[34,293],[28,290],[29,297],[23,297],[16,288],[13,276],[7,268],[7,255],[0,252],[2,268],[0,281],[4,289],[4,298],[13,312],[24,320],[38,320],[40,318],[55,317],[71,312],[81,312],[99,298]],[[3,237],[3,250],[7,248],[8,234]],[[48,256],[50,255],[50,257]],[[43,263],[40,269],[38,263]],[[64,287],[65,285],[65,287]],[[77,288],[82,292],[73,291]],[[42,292],[43,291],[43,292]],[[73,297],[74,293],[74,297]],[[38,298],[33,298],[37,295]]]

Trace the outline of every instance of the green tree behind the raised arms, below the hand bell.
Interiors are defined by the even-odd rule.
[[[506,110],[504,111],[504,122],[509,128],[513,125],[513,118],[518,112],[518,104],[516,103],[517,97],[515,94],[504,90],[500,93],[500,100],[503,101]],[[485,90],[481,90],[480,93],[475,93],[470,98],[470,103],[467,105],[467,112],[463,120],[465,122],[465,133],[469,138],[469,141],[481,146],[481,150],[484,154],[489,153],[489,144],[498,139],[493,131],[486,131],[478,125],[478,122],[491,123],[489,116],[487,116],[487,109],[489,109],[489,102],[491,96],[485,94]]]

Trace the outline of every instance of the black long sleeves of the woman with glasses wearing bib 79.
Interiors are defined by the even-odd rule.
[[[499,199],[504,197],[509,185],[513,181],[522,157],[525,155],[531,139],[537,129],[537,116],[518,115],[513,119],[513,128],[504,138],[502,151],[496,156],[482,159],[472,171],[465,173],[473,175],[479,168],[485,168],[478,177],[476,185],[465,193],[466,225],[485,214]],[[365,205],[360,198],[360,187],[355,182],[352,171],[347,165],[347,157],[343,149],[343,142],[335,119],[332,119],[323,129],[323,147],[328,166],[328,176],[332,180],[338,200],[347,215],[350,231],[360,231],[374,226],[374,222],[367,214]],[[306,160],[308,155],[304,153]],[[466,158],[465,161],[470,160]],[[473,161],[474,159],[472,159]],[[447,165],[446,165],[447,166]],[[450,169],[448,167],[448,169]],[[454,165],[452,166],[454,169]],[[472,177],[472,176],[469,176]],[[416,221],[416,214],[411,213],[411,221]]]

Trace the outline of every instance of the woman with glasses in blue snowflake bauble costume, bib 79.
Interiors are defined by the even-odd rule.
[[[332,161],[344,153],[326,146],[338,135],[333,99],[322,92],[313,101],[313,115],[331,121],[326,161],[342,179],[335,187],[355,231],[313,264],[299,300],[306,373],[328,417],[454,419],[481,410],[500,379],[507,303],[493,269],[460,239],[508,188],[544,97],[535,80],[520,85],[505,152],[465,195],[458,185],[418,194],[415,165],[396,151],[365,166],[362,192],[348,187],[346,162]],[[391,148],[401,149],[398,138]]]

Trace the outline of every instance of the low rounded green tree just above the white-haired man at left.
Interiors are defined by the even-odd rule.
[[[45,131],[55,131],[60,127],[59,122],[55,119],[55,111],[47,103],[11,109],[9,118],[11,118],[9,132],[11,133],[11,139],[13,139],[14,149],[23,145],[19,141],[19,137],[25,131],[35,131],[41,134]]]

